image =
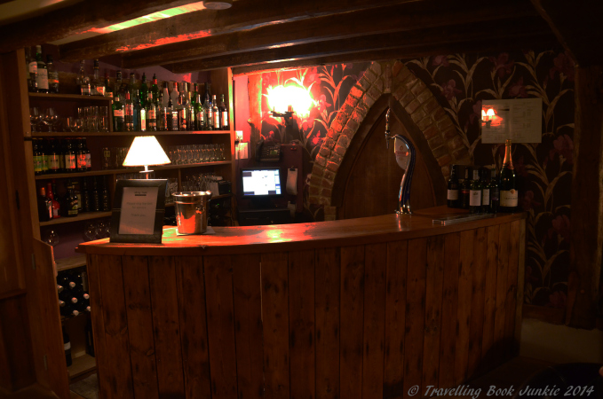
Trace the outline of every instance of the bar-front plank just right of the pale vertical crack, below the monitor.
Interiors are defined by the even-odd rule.
[[[288,254],[262,254],[266,399],[290,396]]]

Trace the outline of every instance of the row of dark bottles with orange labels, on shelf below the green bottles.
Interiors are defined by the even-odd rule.
[[[88,172],[91,170],[91,154],[85,138],[32,139],[34,150],[34,173]]]

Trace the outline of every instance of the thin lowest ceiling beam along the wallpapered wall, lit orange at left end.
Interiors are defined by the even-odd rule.
[[[509,49],[547,48],[558,44],[551,33],[526,35],[516,38],[481,38],[459,43],[436,43],[428,45],[407,46],[389,50],[360,51],[347,54],[329,55],[312,59],[297,59],[281,61],[270,64],[255,64],[250,66],[236,66],[233,76],[242,74],[265,74],[266,72],[282,71],[312,66],[326,66],[334,64],[348,64],[353,62],[385,61],[389,59],[417,59],[440,54],[455,53],[483,53],[494,51],[509,51]]]

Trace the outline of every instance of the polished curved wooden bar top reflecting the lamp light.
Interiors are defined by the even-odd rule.
[[[413,215],[381,215],[332,222],[276,224],[268,226],[214,227],[215,234],[183,235],[176,227],[163,230],[162,244],[110,243],[99,239],[80,244],[77,252],[114,255],[214,255],[251,254],[302,250],[316,247],[359,245],[398,239],[417,239],[508,223],[525,213],[449,226],[433,225],[432,219],[466,213],[448,207],[421,209]]]

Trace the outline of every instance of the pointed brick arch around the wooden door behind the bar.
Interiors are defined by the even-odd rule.
[[[392,93],[423,132],[445,178],[451,164],[471,162],[455,123],[425,83],[400,61],[373,62],[345,98],[314,160],[309,201],[324,206],[325,220],[337,217],[337,207],[331,206],[333,184],[347,148],[370,107],[387,93]]]

